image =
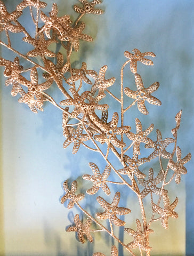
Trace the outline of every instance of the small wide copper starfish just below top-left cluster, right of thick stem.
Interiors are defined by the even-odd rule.
[[[82,67],[80,69],[72,68],[72,73],[75,74],[67,79],[67,83],[75,83],[77,80],[82,79],[86,84],[92,84],[86,75],[97,76],[97,73],[94,70],[87,70],[85,62],[82,62]]]

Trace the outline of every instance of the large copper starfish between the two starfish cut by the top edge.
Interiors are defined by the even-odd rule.
[[[44,14],[41,11],[41,19],[45,23],[42,30],[44,30],[46,36],[48,38],[51,38],[50,36],[50,30],[54,29],[56,33],[59,36],[59,39],[62,40],[64,35],[67,34],[67,28],[69,28],[69,23],[71,23],[70,16],[64,15],[63,17],[57,17],[58,14],[58,6],[56,3],[52,5],[52,10],[49,13],[50,17],[47,17],[46,14]]]

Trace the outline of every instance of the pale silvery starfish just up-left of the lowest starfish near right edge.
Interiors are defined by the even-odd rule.
[[[144,189],[141,192],[142,198],[147,196],[150,192],[153,192],[156,195],[160,195],[161,188],[156,187],[156,185],[158,185],[158,183],[160,183],[163,179],[164,174],[161,170],[159,171],[157,177],[153,179],[153,169],[150,168],[148,180],[138,179],[140,185],[144,187]],[[163,194],[164,193],[167,193],[167,190],[163,189]]]

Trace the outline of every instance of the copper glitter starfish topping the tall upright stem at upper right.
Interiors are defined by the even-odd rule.
[[[137,62],[140,61],[144,65],[152,66],[153,62],[149,59],[144,58],[145,56],[151,56],[156,57],[156,55],[153,52],[140,52],[138,49],[133,49],[133,53],[130,53],[128,51],[124,52],[124,55],[126,58],[130,59],[130,69],[135,74],[137,73]]]

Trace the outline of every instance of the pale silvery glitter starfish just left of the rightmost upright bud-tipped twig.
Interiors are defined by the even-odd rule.
[[[165,150],[165,148],[169,145],[169,143],[173,143],[174,139],[166,138],[165,140],[163,140],[163,138],[161,137],[161,132],[158,129],[156,130],[156,133],[157,133],[157,141],[153,142],[155,150],[148,157],[149,161],[151,161],[151,159],[157,156],[161,156],[164,158],[169,158],[171,156],[171,154],[168,153]],[[152,147],[150,145],[145,145],[145,148],[152,148]]]

